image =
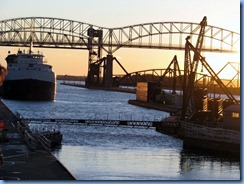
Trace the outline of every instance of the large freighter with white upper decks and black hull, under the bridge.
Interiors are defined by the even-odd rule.
[[[32,45],[32,44],[31,44]],[[54,100],[56,96],[56,75],[52,66],[44,64],[44,55],[18,51],[6,58],[8,74],[1,87],[4,99]]]

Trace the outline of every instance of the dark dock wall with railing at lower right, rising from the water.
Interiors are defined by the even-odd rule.
[[[181,122],[184,148],[205,149],[240,157],[241,134],[238,131]]]

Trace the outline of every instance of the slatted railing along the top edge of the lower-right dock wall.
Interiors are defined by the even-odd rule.
[[[181,122],[185,137],[208,141],[240,144],[240,132],[223,128],[211,128],[194,123]]]

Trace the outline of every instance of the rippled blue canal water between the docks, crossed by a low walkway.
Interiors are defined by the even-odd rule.
[[[161,120],[168,113],[129,105],[135,94],[57,84],[54,102],[3,100],[24,118]],[[240,180],[240,161],[184,150],[180,139],[153,128],[31,124],[59,129],[62,146],[52,154],[77,180]]]

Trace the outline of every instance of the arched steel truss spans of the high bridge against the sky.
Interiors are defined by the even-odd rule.
[[[88,49],[89,28],[102,30],[102,43],[96,38],[92,46],[113,54],[121,47],[184,50],[185,37],[195,42],[199,23],[155,22],[119,28],[105,28],[83,22],[49,18],[24,17],[0,21],[1,46],[27,46],[32,38],[35,47]],[[202,51],[235,52],[240,47],[240,34],[206,26]]]

